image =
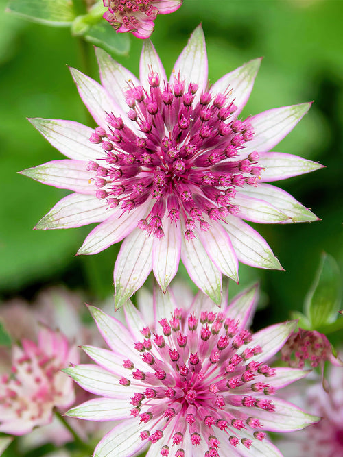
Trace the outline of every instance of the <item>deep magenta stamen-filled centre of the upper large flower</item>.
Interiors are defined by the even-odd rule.
[[[150,90],[134,86],[126,92],[136,128],[108,114],[106,128],[97,127],[90,138],[105,156],[87,168],[94,172],[97,198],[110,208],[130,211],[151,202],[139,222],[142,230],[161,237],[163,217],[174,223],[182,218],[191,239],[196,227],[208,230],[211,221],[237,213],[235,188],[257,186],[259,156],[242,153],[253,138],[252,126],[234,115],[232,91],[203,92],[197,101],[198,86],[185,88],[180,75],[162,88],[151,72],[148,82]]]

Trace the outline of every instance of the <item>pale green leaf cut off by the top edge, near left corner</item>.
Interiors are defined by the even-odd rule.
[[[10,0],[8,11],[29,21],[68,27],[76,14],[69,0]]]

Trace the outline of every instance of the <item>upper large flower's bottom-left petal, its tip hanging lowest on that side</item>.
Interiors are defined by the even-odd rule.
[[[152,271],[152,243],[154,238],[146,236],[137,228],[121,245],[115,262],[115,309],[120,308],[137,291]]]

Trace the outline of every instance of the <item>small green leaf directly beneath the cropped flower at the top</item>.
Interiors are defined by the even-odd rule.
[[[128,34],[117,34],[110,24],[102,19],[91,25],[84,34],[84,39],[93,45],[102,47],[110,54],[128,54],[130,51],[130,37]]]

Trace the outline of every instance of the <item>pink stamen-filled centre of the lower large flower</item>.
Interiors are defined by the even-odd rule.
[[[163,334],[144,328],[144,340],[134,345],[149,369],[135,369],[123,360],[128,378],[119,381],[137,388],[130,404],[131,415],[147,424],[141,439],[157,443],[167,434],[180,457],[185,439],[195,447],[204,440],[209,456],[217,456],[222,432],[234,447],[249,448],[253,439],[263,440],[254,411],[275,409],[263,397],[274,394],[265,382],[274,370],[252,360],[261,347],[250,345],[250,332],[222,312],[187,317],[185,310],[176,309],[169,321],[159,323]],[[161,455],[168,456],[169,447],[163,446]]]

